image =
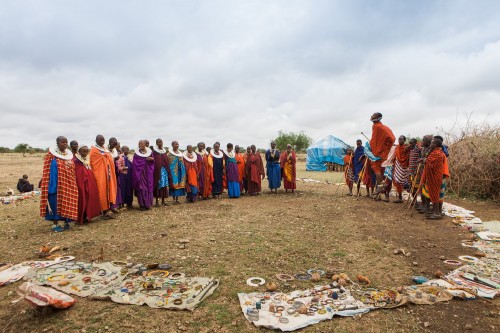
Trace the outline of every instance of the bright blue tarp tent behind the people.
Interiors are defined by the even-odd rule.
[[[307,148],[306,170],[326,171],[326,162],[344,165],[347,148],[352,148],[339,138],[329,135]]]

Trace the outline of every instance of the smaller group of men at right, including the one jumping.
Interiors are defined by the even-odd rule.
[[[448,150],[439,135],[425,135],[422,142],[409,140],[401,135],[395,145],[392,130],[382,124],[382,114],[374,113],[372,138],[363,146],[356,141],[356,148],[349,149],[344,157],[347,166],[344,179],[349,187],[347,195],[353,195],[354,184],[357,195],[361,184],[366,186],[366,196],[389,202],[389,193],[395,187],[397,198],[394,203],[403,203],[406,189],[412,197],[420,195],[421,203],[415,205],[419,213],[428,219],[441,219],[446,179],[449,178]],[[432,206],[431,206],[432,205]]]

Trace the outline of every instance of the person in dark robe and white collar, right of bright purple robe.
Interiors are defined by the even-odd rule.
[[[154,172],[154,195],[156,197],[156,207],[159,206],[158,200],[161,198],[161,204],[166,206],[165,198],[168,198],[170,163],[168,161],[167,150],[163,148],[163,140],[156,139],[156,145],[153,146],[153,157],[155,159]]]

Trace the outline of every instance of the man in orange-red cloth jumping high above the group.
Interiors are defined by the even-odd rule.
[[[372,169],[377,177],[377,184],[382,183],[382,163],[387,159],[389,151],[391,150],[396,137],[391,129],[381,123],[382,114],[379,112],[374,113],[370,120],[373,122],[372,126],[372,139],[370,140],[370,148],[376,157],[380,160],[372,162]]]

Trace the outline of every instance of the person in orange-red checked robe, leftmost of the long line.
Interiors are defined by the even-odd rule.
[[[78,187],[73,154],[67,150],[68,139],[59,136],[57,146],[49,148],[43,161],[40,215],[53,221],[53,231],[69,229],[69,221],[78,219]],[[59,225],[64,221],[64,229]]]

